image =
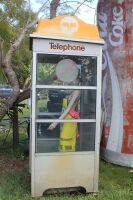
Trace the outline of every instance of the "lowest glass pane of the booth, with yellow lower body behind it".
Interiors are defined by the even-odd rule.
[[[95,123],[50,123],[36,125],[36,152],[76,152],[95,150]]]

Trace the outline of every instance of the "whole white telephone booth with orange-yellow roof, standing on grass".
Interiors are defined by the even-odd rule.
[[[104,42],[72,16],[40,20],[30,39],[32,196],[97,192]]]

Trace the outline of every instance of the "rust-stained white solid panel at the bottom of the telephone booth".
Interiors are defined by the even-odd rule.
[[[32,196],[58,192],[98,190],[98,169],[95,169],[95,153],[75,155],[39,155],[35,157],[32,173]],[[32,169],[33,170],[33,169]],[[97,171],[97,173],[94,173]]]

